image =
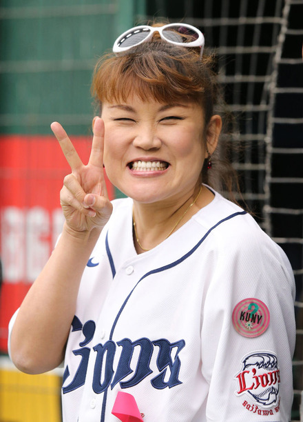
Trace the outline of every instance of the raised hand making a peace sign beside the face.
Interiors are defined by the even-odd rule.
[[[60,203],[67,225],[76,232],[103,228],[112,214],[103,174],[103,120],[96,117],[93,121],[94,137],[87,165],[82,163],[60,123],[52,123],[51,128],[72,170],[65,176],[60,192]]]

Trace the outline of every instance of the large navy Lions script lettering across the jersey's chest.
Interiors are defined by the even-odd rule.
[[[105,343],[98,343],[93,348],[87,348],[85,345],[90,343],[94,336],[96,325],[94,321],[87,321],[83,326],[79,319],[74,319],[73,330],[81,330],[85,335],[85,340],[79,343],[80,348],[73,350],[74,356],[81,356],[79,368],[75,371],[74,378],[69,381],[70,369],[67,365],[63,376],[63,393],[66,394],[85,383],[87,365],[90,354],[95,354],[94,374],[92,379],[92,389],[96,394],[101,394],[107,388],[113,389],[119,383],[121,388],[130,388],[137,385],[147,376],[151,375],[150,383],[154,388],[162,390],[163,388],[172,388],[182,381],[178,379],[181,361],[179,353],[185,346],[184,340],[174,343],[167,339],[158,339],[151,341],[147,338],[141,338],[136,341],[122,339],[121,341],[108,340]],[[138,348],[139,353],[135,353]],[[151,356],[156,352],[157,372],[150,368]],[[118,364],[114,364],[115,356],[120,353]],[[138,356],[134,359],[134,356]],[[132,368],[131,368],[132,366]],[[133,374],[130,378],[129,376]]]

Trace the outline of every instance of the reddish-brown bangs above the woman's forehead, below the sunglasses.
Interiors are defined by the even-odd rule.
[[[96,65],[92,94],[101,103],[126,102],[134,95],[142,101],[200,103],[205,81],[197,77],[201,60],[192,50],[151,42],[118,57],[107,54]]]

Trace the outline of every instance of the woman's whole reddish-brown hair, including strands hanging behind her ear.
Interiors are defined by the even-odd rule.
[[[162,26],[156,23],[154,26]],[[200,48],[176,46],[163,41],[156,32],[151,41],[118,54],[107,53],[96,64],[92,81],[92,95],[102,108],[103,102],[124,102],[136,94],[143,101],[150,98],[160,103],[194,101],[204,112],[205,128],[213,114],[226,114],[222,92],[214,68],[213,54],[203,54]],[[230,117],[230,115],[229,115]],[[224,119],[223,119],[224,121]],[[202,181],[220,191],[238,191],[236,172],[225,159],[224,145],[212,156],[213,168],[203,165]]]

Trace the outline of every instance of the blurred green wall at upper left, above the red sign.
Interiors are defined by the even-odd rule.
[[[0,133],[87,134],[96,59],[145,14],[145,0],[3,0]]]

